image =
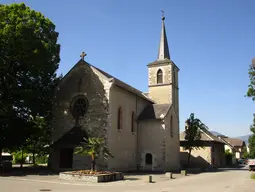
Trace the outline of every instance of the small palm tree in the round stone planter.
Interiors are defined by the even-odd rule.
[[[113,158],[109,149],[105,145],[104,139],[98,137],[89,137],[88,139],[85,139],[85,142],[76,148],[75,154],[91,157],[91,171],[95,171],[96,158],[100,155],[106,160],[109,157]]]

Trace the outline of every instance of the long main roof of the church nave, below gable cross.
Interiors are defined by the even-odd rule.
[[[124,83],[123,81],[119,80],[118,78],[116,78],[116,77],[114,77],[114,76],[112,76],[112,75],[106,73],[105,71],[103,71],[103,70],[101,70],[101,69],[99,69],[99,68],[97,68],[97,67],[95,67],[95,66],[89,64],[88,62],[86,62],[86,61],[84,61],[84,60],[82,60],[82,59],[79,60],[78,63],[76,63],[76,64],[70,69],[70,71],[62,78],[61,82],[63,82],[63,81],[66,79],[66,77],[70,75],[71,71],[72,71],[74,68],[76,68],[78,65],[84,65],[84,64],[89,65],[90,67],[92,67],[92,68],[94,68],[95,70],[97,70],[97,71],[98,71],[99,73],[101,73],[106,79],[108,79],[108,81],[112,81],[113,84],[115,84],[115,85],[117,85],[117,86],[123,88],[124,90],[126,90],[126,91],[128,91],[128,92],[131,92],[131,93],[137,95],[138,97],[141,97],[141,98],[143,98],[143,99],[145,99],[145,100],[147,100],[147,101],[149,101],[149,102],[151,102],[151,103],[155,103],[152,99],[150,99],[149,97],[147,97],[147,95],[144,94],[142,91],[139,91],[138,89],[136,89],[136,88],[134,88],[134,87],[132,87],[132,86],[130,86],[130,85]],[[61,82],[60,82],[60,83],[61,83]]]

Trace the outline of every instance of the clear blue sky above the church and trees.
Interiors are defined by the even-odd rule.
[[[253,0],[1,0],[25,2],[56,25],[59,73],[85,51],[86,60],[147,92],[147,64],[156,60],[161,10],[171,59],[180,68],[180,126],[191,112],[210,130],[249,134],[254,103],[244,95],[255,57]]]

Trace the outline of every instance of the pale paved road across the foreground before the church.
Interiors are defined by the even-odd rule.
[[[244,169],[203,173],[173,180],[155,177],[155,183],[145,180],[127,180],[105,184],[84,184],[59,181],[53,176],[0,177],[1,192],[36,192],[50,189],[52,192],[254,192],[255,181]]]

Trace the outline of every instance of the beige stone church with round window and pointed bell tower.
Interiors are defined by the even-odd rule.
[[[113,155],[97,168],[112,171],[170,171],[180,168],[179,68],[170,58],[162,29],[157,59],[148,66],[144,93],[81,59],[55,91],[53,170],[90,169],[90,157],[74,149],[85,135],[103,137]]]

